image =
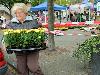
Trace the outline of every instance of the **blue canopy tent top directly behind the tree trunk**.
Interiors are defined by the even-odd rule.
[[[66,9],[67,7],[54,4],[54,10],[66,10]],[[48,10],[47,2],[44,2],[42,4],[30,8],[30,11],[39,11],[39,10]]]

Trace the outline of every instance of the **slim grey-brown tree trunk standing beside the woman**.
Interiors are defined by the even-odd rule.
[[[54,0],[48,0],[48,26],[49,31],[54,31]],[[54,34],[49,33],[49,50],[55,50]]]

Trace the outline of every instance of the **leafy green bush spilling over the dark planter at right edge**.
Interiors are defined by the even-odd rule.
[[[92,53],[98,52],[100,52],[100,36],[95,36],[79,45],[78,50],[74,52],[74,57],[81,61],[90,61]]]

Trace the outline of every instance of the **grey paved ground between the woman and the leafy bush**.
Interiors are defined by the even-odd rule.
[[[55,36],[56,51],[41,51],[40,66],[45,75],[88,75],[84,63],[72,57],[78,44],[90,38],[89,32],[68,30],[64,36]],[[7,55],[7,59],[12,55]],[[10,60],[9,60],[10,61]],[[12,64],[15,64],[11,61]]]

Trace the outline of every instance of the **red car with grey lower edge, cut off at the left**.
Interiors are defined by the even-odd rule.
[[[0,75],[5,75],[7,72],[7,62],[4,60],[4,54],[0,48]]]

